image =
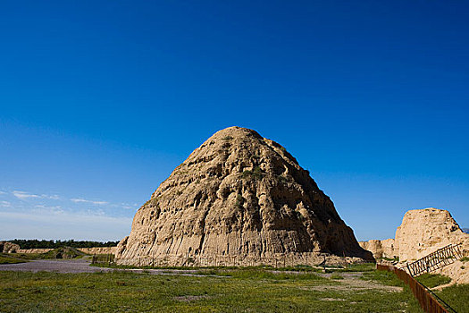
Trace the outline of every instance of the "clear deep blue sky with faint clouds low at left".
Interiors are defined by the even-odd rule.
[[[5,1],[0,240],[120,240],[215,131],[276,140],[359,240],[469,226],[469,4]]]

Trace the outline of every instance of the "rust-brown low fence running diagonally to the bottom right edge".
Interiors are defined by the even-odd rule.
[[[412,277],[411,275],[409,275],[406,271],[404,271],[400,268],[397,268],[395,266],[385,266],[385,265],[381,265],[381,264],[377,264],[376,269],[381,270],[381,271],[393,272],[394,274],[396,274],[398,276],[398,278],[401,281],[408,284],[409,287],[410,287],[410,290],[412,291],[412,293],[415,296],[415,299],[419,302],[421,308],[425,312],[427,312],[427,313],[449,313],[449,311],[448,311],[448,309],[449,309],[451,312],[456,313],[456,311],[454,309],[452,309],[448,305],[448,303],[446,303],[445,301],[438,298],[438,296],[436,294],[431,292],[431,290],[428,289],[427,287],[425,287],[422,283],[417,282],[415,280],[415,278]],[[440,302],[438,300],[433,298],[431,296],[431,293],[433,294],[433,296],[440,299],[440,301],[443,302],[445,304],[445,306],[447,306],[448,309],[445,309],[440,304]]]

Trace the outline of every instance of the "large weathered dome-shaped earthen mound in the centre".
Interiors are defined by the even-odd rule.
[[[116,256],[119,264],[163,257],[180,265],[189,257],[318,252],[372,258],[285,148],[230,127],[194,150],[138,209]]]

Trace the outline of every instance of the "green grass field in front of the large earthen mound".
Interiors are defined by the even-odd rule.
[[[372,273],[374,273],[372,275]],[[0,272],[2,312],[421,312],[388,273],[350,280],[260,269],[149,275]],[[340,273],[340,275],[349,275]],[[364,280],[365,279],[365,280]],[[379,281],[380,283],[374,283]]]

